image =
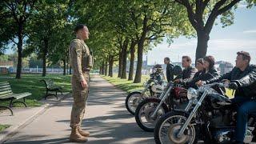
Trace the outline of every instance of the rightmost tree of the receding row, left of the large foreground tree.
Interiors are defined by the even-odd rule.
[[[134,78],[134,83],[138,83],[142,78],[143,52],[146,47],[149,47],[150,42],[157,44],[165,36],[175,38],[180,34],[191,34],[192,30],[183,11],[173,2],[136,1],[128,11],[131,21],[134,22],[138,42],[138,64]]]

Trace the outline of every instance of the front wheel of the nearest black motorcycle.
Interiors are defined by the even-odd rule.
[[[154,141],[157,144],[193,144],[196,143],[196,131],[194,126],[188,126],[181,137],[177,137],[178,131],[186,122],[187,115],[182,112],[170,112],[159,119],[154,129]]]

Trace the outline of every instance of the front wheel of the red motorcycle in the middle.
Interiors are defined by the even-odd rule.
[[[135,111],[135,120],[138,126],[142,128],[142,130],[153,132],[154,126],[158,122],[158,119],[163,114],[167,113],[168,108],[166,104],[162,104],[156,116],[152,117],[152,115],[154,114],[154,110],[156,110],[160,102],[160,99],[148,98],[139,103]]]

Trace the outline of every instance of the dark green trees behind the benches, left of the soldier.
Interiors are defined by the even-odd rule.
[[[1,50],[14,45],[18,52],[16,78],[21,78],[22,58],[37,54],[46,75],[47,60],[63,61],[66,66],[67,47],[72,36],[69,19],[71,2],[66,1],[1,1]]]

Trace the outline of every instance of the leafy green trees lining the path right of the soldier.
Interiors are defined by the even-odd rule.
[[[210,31],[214,24],[230,26],[239,0],[150,0],[129,2],[90,1],[78,6],[81,22],[94,30],[96,63],[101,74],[112,76],[113,62],[118,61],[118,77],[126,78],[126,59],[130,58],[128,79],[133,80],[134,58],[138,65],[134,82],[141,82],[142,56],[152,46],[167,38],[183,35],[197,37],[196,59],[206,56]],[[248,7],[255,1],[243,1]],[[86,19],[85,19],[86,18]],[[97,40],[95,40],[97,39]]]

